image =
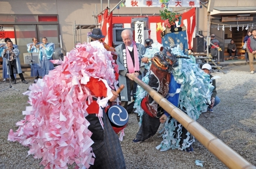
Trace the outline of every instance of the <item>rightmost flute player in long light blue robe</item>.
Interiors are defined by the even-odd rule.
[[[42,62],[42,78],[44,78],[45,75],[49,74],[50,70],[54,69],[53,63],[50,62],[54,51],[54,43],[48,43],[46,37],[42,38],[42,42],[39,48],[39,56]]]

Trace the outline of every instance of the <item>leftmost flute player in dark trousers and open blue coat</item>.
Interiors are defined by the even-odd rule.
[[[22,81],[22,83],[27,84],[27,81],[24,79],[24,76],[22,74],[20,61],[19,61],[19,50],[18,48],[13,47],[12,41],[7,42],[7,47],[4,49],[4,52],[2,53],[2,57],[6,58],[7,62],[9,62],[9,70],[10,70],[10,76],[12,79],[12,84],[16,84],[16,79],[14,76],[14,70],[15,72],[18,72],[19,77]]]

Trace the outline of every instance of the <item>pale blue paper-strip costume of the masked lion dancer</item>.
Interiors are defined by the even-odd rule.
[[[155,48],[147,49],[144,56],[148,58],[152,58],[155,52],[159,52],[159,44],[155,46]],[[180,46],[177,45],[171,49],[173,55],[176,56],[187,56],[180,50]],[[210,103],[210,91],[212,90],[212,86],[210,84],[211,80],[209,75],[204,74],[202,70],[200,70],[195,63],[193,63],[192,59],[177,59],[178,66],[174,67],[170,72],[171,78],[169,83],[169,95],[167,95],[167,100],[171,102],[173,105],[179,107],[184,113],[186,113],[189,117],[194,120],[199,118],[200,112],[204,112],[207,109],[206,103]],[[150,67],[149,63],[145,66],[145,68]],[[143,82],[148,84],[149,72],[142,79]],[[150,127],[152,127],[152,131],[144,130],[142,132],[137,133],[136,139],[140,141],[144,141],[146,137],[153,136],[160,125],[159,119],[156,118],[148,118],[149,116],[144,113],[142,107],[140,106],[142,99],[146,96],[146,91],[143,90],[142,87],[138,86],[138,91],[136,92],[136,100],[134,108],[136,108],[138,115],[140,116],[140,130],[141,128],[148,126],[143,125],[146,121]],[[165,111],[164,113],[167,115],[167,121],[165,122],[165,126],[160,131],[162,134],[163,141],[157,149],[161,149],[161,151],[166,151],[168,149],[180,149],[186,150],[189,149],[191,144],[194,142],[194,139],[190,135],[190,133],[182,127],[180,123],[170,117]],[[143,120],[145,120],[143,122]],[[153,123],[155,127],[153,127]],[[143,131],[143,129],[142,129]],[[139,137],[139,138],[137,138]],[[144,137],[144,138],[143,138]]]

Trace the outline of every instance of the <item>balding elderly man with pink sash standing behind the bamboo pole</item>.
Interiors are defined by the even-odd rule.
[[[123,44],[117,46],[117,65],[119,69],[119,84],[124,84],[125,88],[121,91],[121,106],[127,109],[128,101],[131,101],[131,96],[135,99],[137,84],[133,83],[131,78],[135,74],[139,79],[143,77],[145,64],[142,63],[142,55],[145,54],[146,48],[143,44],[133,41],[132,31],[127,29],[121,34]],[[147,58],[144,58],[147,60]],[[144,60],[143,59],[143,60]],[[131,95],[132,92],[132,95]]]

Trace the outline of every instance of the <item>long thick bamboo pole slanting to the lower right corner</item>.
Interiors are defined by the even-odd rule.
[[[131,75],[131,78],[139,84],[146,92],[173,118],[184,126],[203,146],[205,146],[215,157],[230,169],[256,169],[250,162],[237,154],[233,149],[223,143],[220,139],[211,134],[199,123],[190,118],[183,111],[175,107],[172,103],[163,98],[157,91]]]

